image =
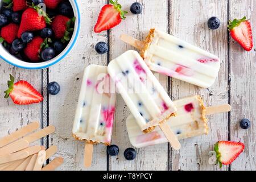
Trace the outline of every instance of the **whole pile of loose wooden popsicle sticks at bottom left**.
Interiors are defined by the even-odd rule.
[[[44,162],[57,152],[57,147],[51,146],[46,150],[44,146],[30,144],[53,133],[55,127],[35,131],[38,128],[39,123],[33,122],[0,138],[0,171],[52,171],[63,163],[63,158],[58,157],[43,167]]]

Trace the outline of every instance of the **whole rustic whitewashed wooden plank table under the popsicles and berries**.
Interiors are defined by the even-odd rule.
[[[123,9],[129,10],[131,0],[119,0]],[[232,165],[222,170],[256,169],[256,50],[243,51],[230,39],[227,24],[229,19],[250,18],[256,39],[256,1],[255,0],[139,0],[144,6],[141,15],[129,12],[125,21],[111,31],[95,34],[93,32],[98,13],[106,0],[80,0],[82,28],[79,41],[73,51],[59,64],[51,68],[30,71],[13,67],[0,60],[0,137],[27,125],[40,121],[42,127],[56,126],[56,132],[44,138],[41,144],[55,144],[57,155],[64,157],[61,170],[84,170],[82,154],[84,143],[72,138],[73,118],[80,92],[84,67],[89,64],[108,65],[109,61],[134,49],[119,40],[119,35],[129,34],[143,39],[151,27],[170,32],[178,38],[195,44],[218,55],[221,59],[219,76],[212,87],[200,89],[183,81],[160,76],[160,81],[176,100],[185,96],[199,94],[206,105],[229,103],[232,112],[212,115],[209,118],[209,135],[181,140],[182,148],[174,151],[168,144],[160,144],[138,149],[138,156],[128,162],[123,158],[123,151],[131,147],[127,137],[125,119],[129,115],[121,96],[117,99],[117,110],[113,130],[113,144],[119,146],[119,155],[110,157],[106,147],[98,145],[94,150],[93,170],[220,170],[218,166],[208,164],[208,152],[218,140],[236,140],[245,143],[245,151]],[[222,25],[216,30],[209,30],[207,20],[211,16],[221,19]],[[109,53],[98,55],[94,51],[97,42],[108,42]],[[254,40],[254,44],[256,44]],[[9,74],[17,80],[27,80],[41,90],[42,104],[17,106],[11,100],[3,98]],[[61,92],[57,96],[47,96],[48,82],[57,81]],[[242,130],[239,121],[248,118],[249,130]]]

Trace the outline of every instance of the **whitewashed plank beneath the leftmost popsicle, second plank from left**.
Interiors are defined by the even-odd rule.
[[[49,82],[57,81],[61,90],[57,96],[49,96],[49,123],[56,126],[55,134],[49,138],[49,145],[56,145],[57,154],[63,156],[61,170],[84,170],[84,142],[72,137],[73,120],[79,98],[84,68],[90,64],[107,65],[107,55],[99,55],[94,46],[107,42],[107,32],[95,34],[94,24],[106,1],[78,1],[81,11],[81,33],[76,46],[64,60],[49,68]],[[92,167],[89,170],[106,170],[106,146],[94,146]]]

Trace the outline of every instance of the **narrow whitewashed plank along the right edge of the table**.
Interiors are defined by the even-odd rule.
[[[230,1],[230,19],[247,16],[253,26],[254,48],[256,40],[256,2],[253,0]],[[230,39],[230,140],[245,143],[245,151],[231,164],[231,170],[256,169],[256,50],[246,52]],[[242,118],[250,119],[248,130],[240,128]]]

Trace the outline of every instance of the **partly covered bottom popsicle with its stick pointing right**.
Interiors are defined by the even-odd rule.
[[[168,125],[171,127],[172,131],[174,131],[178,139],[208,134],[206,115],[231,110],[230,105],[205,107],[200,96],[183,98],[174,101],[174,104],[177,106],[177,116],[170,118]],[[141,148],[168,142],[159,128],[156,128],[151,133],[143,134],[133,115],[129,115],[126,119],[126,127],[130,142],[134,147]]]

